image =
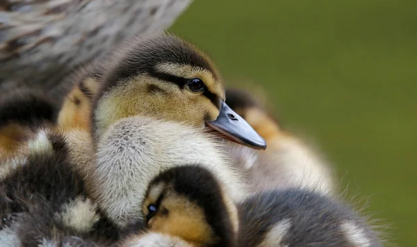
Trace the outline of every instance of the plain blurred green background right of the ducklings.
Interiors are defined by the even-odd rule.
[[[253,81],[398,246],[417,242],[417,1],[195,0],[170,29]]]

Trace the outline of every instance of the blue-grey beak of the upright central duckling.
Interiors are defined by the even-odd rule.
[[[207,125],[240,145],[254,149],[266,149],[265,140],[223,101],[218,118],[207,122]]]

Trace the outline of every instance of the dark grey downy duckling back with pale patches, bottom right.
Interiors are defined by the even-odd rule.
[[[237,207],[238,246],[382,246],[365,218],[323,193],[276,189]]]

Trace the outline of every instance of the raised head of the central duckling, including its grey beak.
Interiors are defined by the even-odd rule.
[[[222,79],[206,54],[173,35],[147,35],[131,40],[108,63],[93,104],[93,136],[121,118],[145,115],[208,126],[265,149],[263,138],[224,101]]]

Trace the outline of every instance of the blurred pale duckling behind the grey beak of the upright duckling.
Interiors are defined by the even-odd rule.
[[[334,171],[324,157],[300,138],[287,132],[279,121],[245,90],[226,90],[227,103],[268,143],[268,150],[256,152],[229,143],[227,150],[237,164],[250,170],[257,191],[275,188],[299,188],[334,193]],[[253,159],[248,159],[250,154]]]

